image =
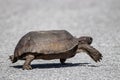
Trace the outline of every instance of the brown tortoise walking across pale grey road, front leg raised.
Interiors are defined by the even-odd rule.
[[[65,64],[66,59],[83,50],[98,62],[102,54],[90,45],[92,40],[90,36],[76,38],[66,30],[30,31],[20,39],[10,59],[12,63],[25,60],[23,70],[30,70],[34,59],[60,59]]]

